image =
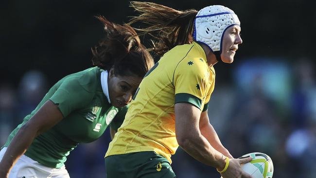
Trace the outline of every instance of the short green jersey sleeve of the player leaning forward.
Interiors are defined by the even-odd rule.
[[[87,106],[93,95],[84,89],[75,78],[64,80],[50,100],[58,105],[64,117],[71,111]]]

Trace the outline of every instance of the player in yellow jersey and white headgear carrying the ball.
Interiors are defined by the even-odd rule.
[[[232,63],[240,21],[221,5],[177,11],[150,2],[132,2],[140,12],[130,23],[149,27],[156,52],[163,54],[147,72],[123,125],[105,155],[107,178],[174,178],[171,155],[180,145],[194,159],[217,168],[223,178],[251,178],[220,142],[207,115],[214,89],[213,65]]]

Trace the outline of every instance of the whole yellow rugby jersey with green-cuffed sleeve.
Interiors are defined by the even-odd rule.
[[[175,104],[187,102],[205,111],[214,82],[214,68],[209,68],[205,52],[196,42],[165,53],[141,81],[105,157],[155,151],[171,163],[179,146]]]

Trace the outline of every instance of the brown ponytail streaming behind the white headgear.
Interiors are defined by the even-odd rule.
[[[131,1],[139,16],[133,17],[128,24],[142,22],[145,28],[135,28],[138,35],[148,34],[156,38],[154,51],[164,54],[177,45],[193,42],[193,25],[197,11],[194,9],[178,11],[154,2]],[[158,34],[158,35],[157,35]]]

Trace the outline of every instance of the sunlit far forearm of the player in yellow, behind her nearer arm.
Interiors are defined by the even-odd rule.
[[[201,134],[208,140],[213,148],[221,152],[223,155],[228,158],[233,158],[229,151],[223,146],[221,141],[218,138],[218,135],[211,124],[205,125],[200,128]]]

